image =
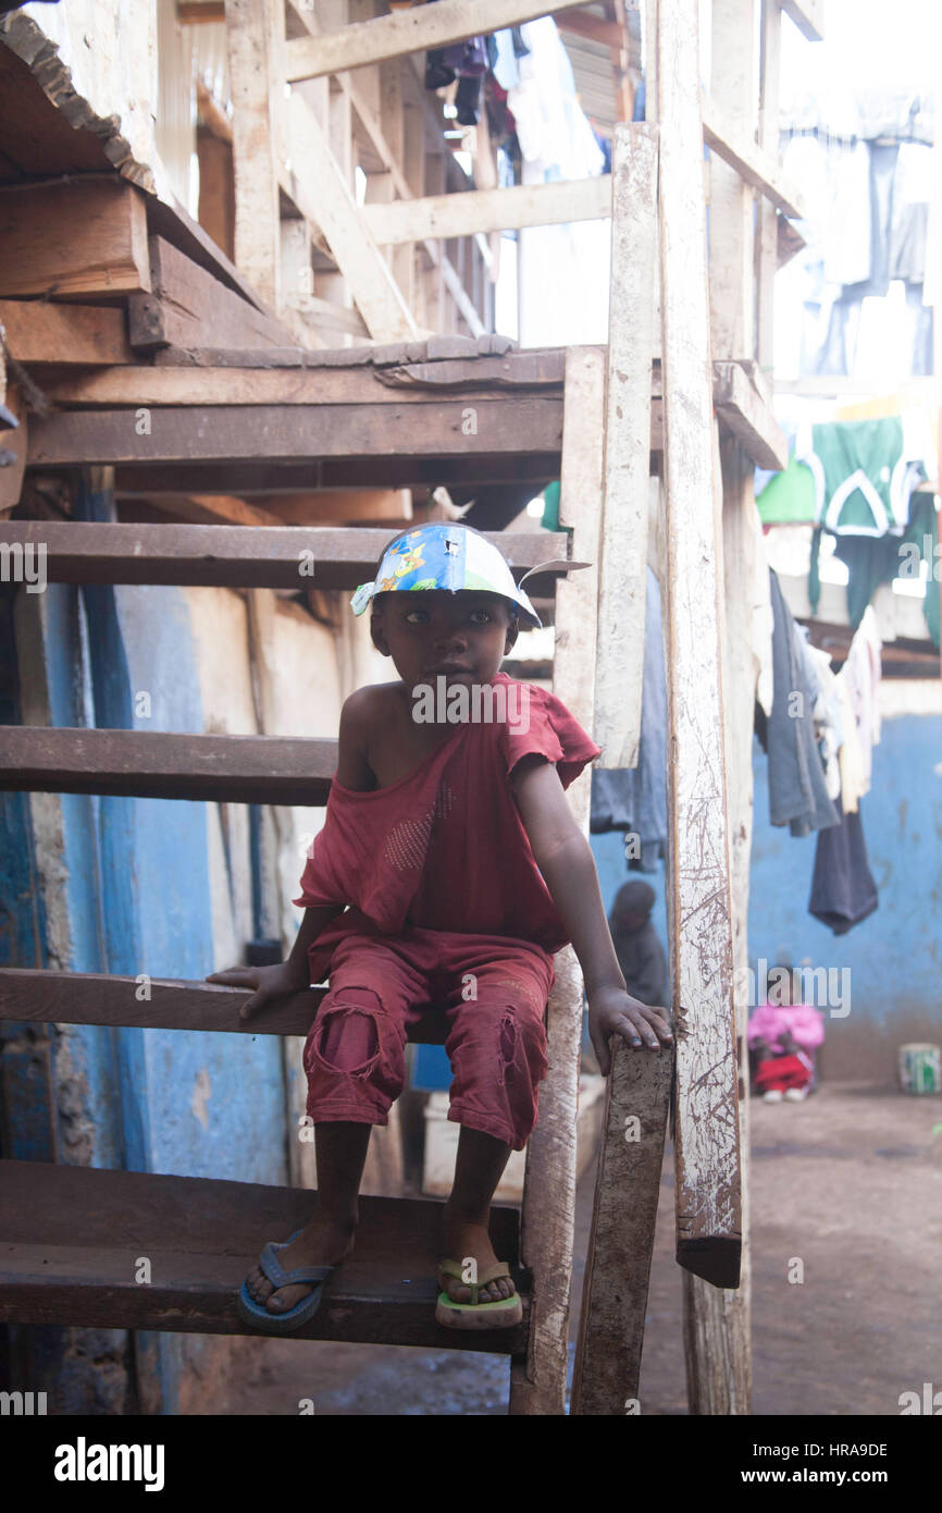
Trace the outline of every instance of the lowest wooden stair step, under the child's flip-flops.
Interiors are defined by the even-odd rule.
[[[246,1334],[239,1285],[266,1241],[307,1223],[313,1200],[302,1188],[3,1160],[0,1322]],[[442,1209],[428,1198],[360,1198],[354,1254],[296,1337],[525,1351],[517,1210],[491,1209],[491,1239],[513,1268],[523,1322],[478,1333],[434,1318]],[[141,1257],[151,1262],[150,1285],[135,1280]]]

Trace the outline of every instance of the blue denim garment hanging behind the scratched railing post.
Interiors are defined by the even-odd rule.
[[[605,761],[605,753],[602,755]],[[638,766],[593,767],[590,829],[634,832],[641,855],[631,858],[638,871],[656,871],[667,846],[667,679],[661,628],[661,586],[647,569],[644,602],[644,672],[641,685],[641,738]]]

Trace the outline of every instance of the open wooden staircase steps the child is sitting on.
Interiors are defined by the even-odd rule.
[[[304,546],[315,552],[318,584],[343,590],[370,576],[392,534],[83,522],[0,527],[0,539],[11,545],[47,543],[51,583],[284,587],[296,581]],[[517,576],[538,561],[569,555],[566,533],[493,539]],[[552,576],[544,584],[552,590]],[[0,729],[0,787],[20,791],[324,805],[336,760],[336,740],[324,738]],[[307,1033],[327,991],[298,993],[245,1024],[242,991],[153,979],[142,1002],[138,985],[135,977],[8,968],[0,971],[0,1018],[296,1036]],[[573,1008],[581,1017],[581,1000]],[[443,1035],[429,1015],[410,1038],[442,1042]],[[547,1092],[541,1120],[549,1124],[552,1086]],[[575,1170],[575,1127],[572,1157]],[[528,1182],[523,1223],[529,1213],[538,1254],[535,1192]],[[311,1198],[296,1188],[0,1162],[0,1322],[245,1334],[236,1310],[240,1280],[265,1239],[287,1238],[307,1221]],[[523,1322],[490,1334],[435,1324],[442,1207],[437,1200],[361,1198],[355,1253],[298,1337],[510,1354],[517,1381],[511,1412],[547,1412],[547,1403],[561,1412],[564,1377],[555,1371],[538,1395],[528,1378],[532,1271],[522,1265],[517,1209],[494,1207],[491,1236],[513,1266]],[[142,1257],[151,1263],[147,1285],[136,1280]],[[544,1263],[547,1271],[556,1266],[549,1254]],[[569,1275],[564,1282],[569,1292]]]

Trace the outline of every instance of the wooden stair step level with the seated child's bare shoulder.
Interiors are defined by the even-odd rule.
[[[325,805],[336,740],[0,726],[0,790]]]

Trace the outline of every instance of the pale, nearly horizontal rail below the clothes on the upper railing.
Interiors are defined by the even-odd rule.
[[[469,189],[423,200],[366,204],[360,213],[381,245],[420,242],[435,236],[473,236],[475,231],[504,231],[523,225],[599,221],[611,215],[611,179],[599,174],[594,179],[550,185]]]

